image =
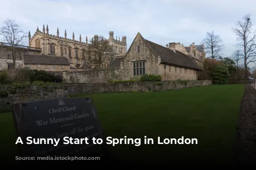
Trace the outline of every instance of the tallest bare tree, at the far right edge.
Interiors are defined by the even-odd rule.
[[[241,55],[244,59],[245,77],[248,77],[248,64],[256,61],[256,33],[252,28],[250,16],[250,14],[246,14],[242,20],[237,21],[237,28],[233,28],[233,32],[237,35],[237,40],[241,47]]]

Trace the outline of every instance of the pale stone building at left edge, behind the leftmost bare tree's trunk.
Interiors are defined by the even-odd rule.
[[[0,70],[12,69],[13,59],[12,59],[12,47],[11,44],[0,42]],[[18,45],[16,47],[16,60],[15,68],[23,67],[23,56],[32,54],[39,55],[41,53],[41,48],[29,47],[24,45]]]

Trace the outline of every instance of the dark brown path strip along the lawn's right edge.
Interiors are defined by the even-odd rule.
[[[256,162],[256,90],[249,84],[241,102],[236,141],[236,163],[246,162]]]

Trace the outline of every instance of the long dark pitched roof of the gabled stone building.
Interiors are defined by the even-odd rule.
[[[143,40],[146,42],[148,47],[151,48],[155,56],[160,56],[161,63],[172,64],[175,66],[200,70],[200,67],[197,65],[197,63],[192,58],[185,55],[184,53],[181,53],[177,50],[174,52],[169,48],[156,44],[152,41],[148,41],[144,38]]]

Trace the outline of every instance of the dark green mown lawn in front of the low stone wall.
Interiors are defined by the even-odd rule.
[[[123,159],[229,161],[244,85],[211,85],[164,92],[101,93],[92,97],[105,136],[141,138],[140,147],[116,145],[111,153]],[[17,153],[10,113],[0,113],[0,150]],[[143,144],[144,136],[155,144]],[[197,138],[197,145],[159,145],[161,138]],[[10,152],[11,150],[11,152]]]

